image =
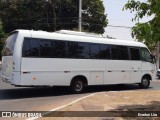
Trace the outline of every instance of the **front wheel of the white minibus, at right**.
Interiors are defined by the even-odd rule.
[[[147,89],[149,86],[150,86],[150,79],[148,77],[143,77],[141,83],[139,84],[139,87]]]

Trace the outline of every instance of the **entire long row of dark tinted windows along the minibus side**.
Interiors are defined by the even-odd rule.
[[[131,49],[130,51],[132,53],[132,59],[136,59],[135,58],[136,50]],[[112,58],[114,60],[129,59],[128,48],[125,46],[89,44],[83,42],[66,42],[58,40],[53,41],[53,40],[35,39],[35,38],[24,39],[23,57],[77,58],[77,59]]]

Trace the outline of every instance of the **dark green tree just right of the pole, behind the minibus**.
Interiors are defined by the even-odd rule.
[[[104,33],[104,27],[108,20],[101,0],[83,0],[83,24],[84,29],[95,33]]]

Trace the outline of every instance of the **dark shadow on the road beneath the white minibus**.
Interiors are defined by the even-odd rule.
[[[87,87],[86,93],[103,92],[103,91],[127,91],[139,90],[138,85],[106,85],[106,86],[90,86]],[[69,87],[37,87],[22,88],[15,87],[10,89],[0,89],[0,100],[6,99],[23,99],[48,96],[71,95]]]

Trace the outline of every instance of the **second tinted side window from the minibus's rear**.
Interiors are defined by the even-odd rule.
[[[40,40],[40,57],[52,57],[52,41]]]

